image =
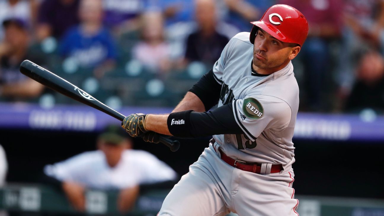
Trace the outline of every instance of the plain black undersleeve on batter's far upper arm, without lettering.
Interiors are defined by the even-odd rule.
[[[221,84],[215,77],[212,69],[203,75],[200,80],[189,89],[190,92],[197,95],[203,102],[205,111],[210,110],[210,108],[218,103],[220,90]]]

